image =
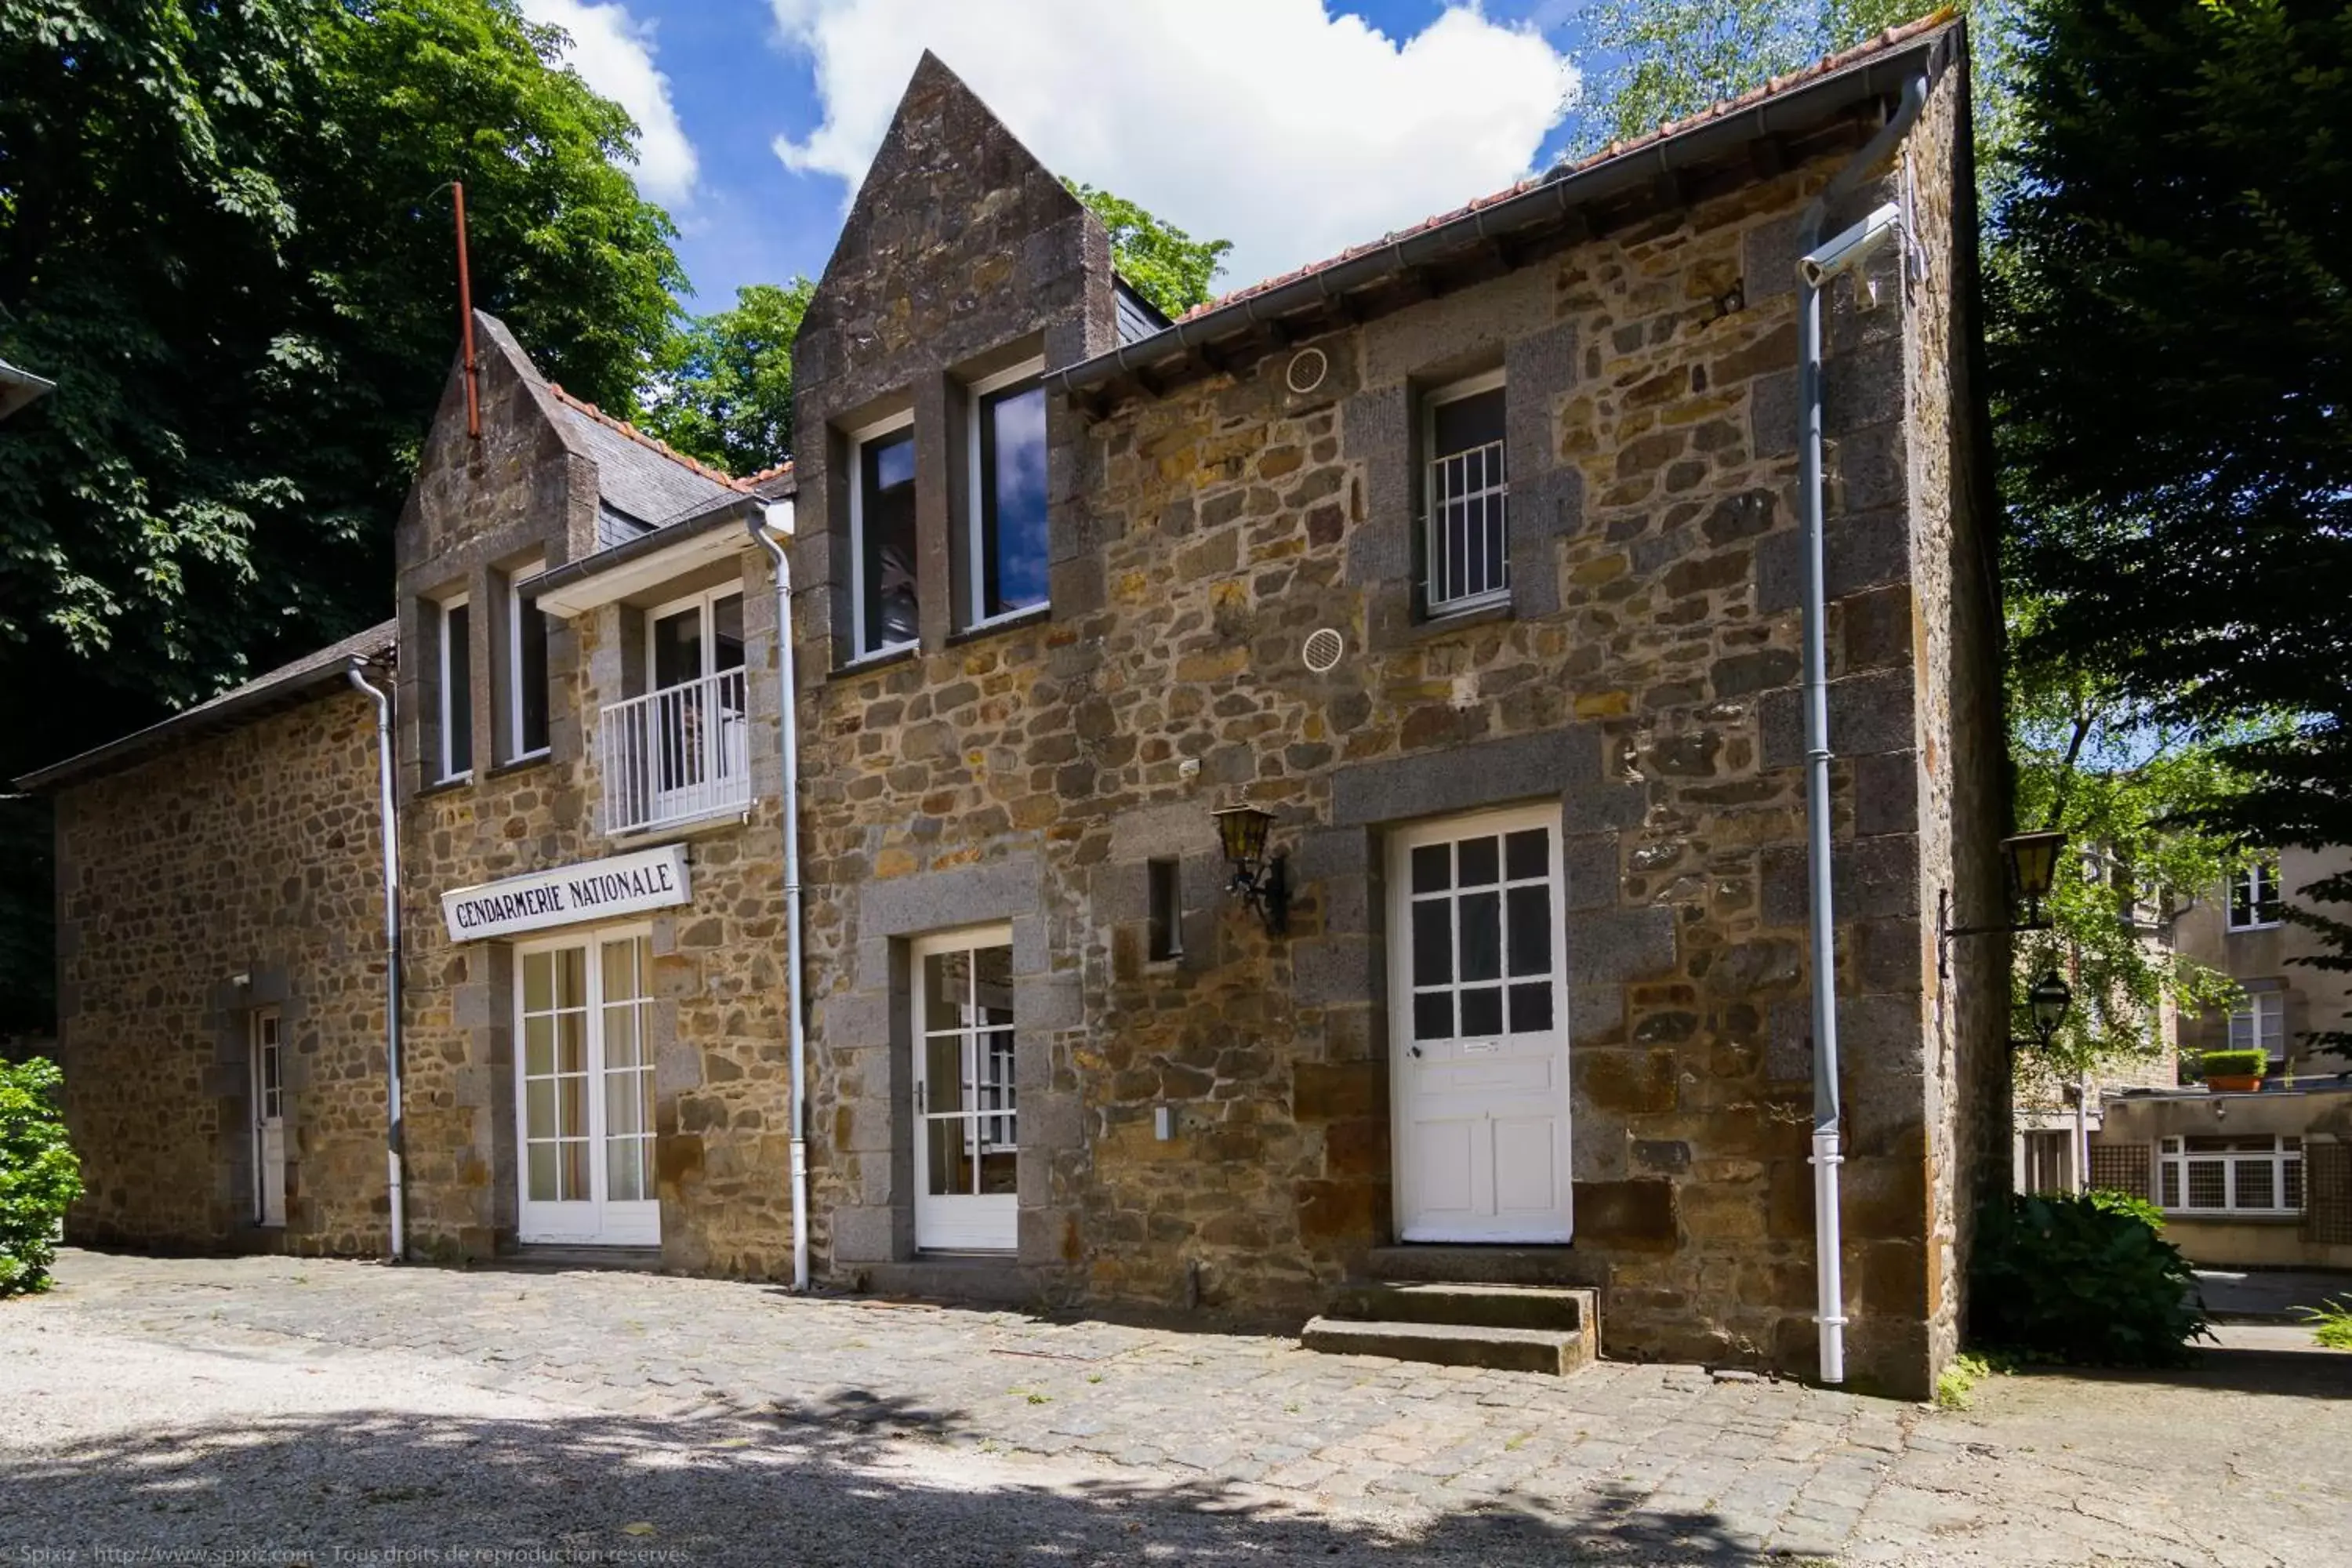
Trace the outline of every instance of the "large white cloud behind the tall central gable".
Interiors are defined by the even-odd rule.
[[[1392,40],[1324,0],[771,0],[823,122],[786,167],[856,190],[924,47],[1047,167],[1195,237],[1218,287],[1319,261],[1524,176],[1576,92],[1531,26],[1451,5]]]

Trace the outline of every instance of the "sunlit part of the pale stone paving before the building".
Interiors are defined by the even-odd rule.
[[[2197,1373],[1999,1378],[1959,1415],[1693,1366],[1428,1368],[642,1274],[66,1253],[59,1279],[0,1307],[0,1352],[397,1363],[602,1413],[652,1448],[849,1453],[851,1490],[948,1472],[1110,1486],[1120,1507],[1317,1521],[1317,1554],[2352,1563],[2352,1356],[2284,1328],[2225,1331],[2239,1342]],[[720,1429],[741,1436],[680,1436]],[[0,1429],[0,1561],[26,1462]]]

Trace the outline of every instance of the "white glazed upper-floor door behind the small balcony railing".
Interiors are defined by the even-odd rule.
[[[739,802],[750,769],[743,595],[696,595],[647,616],[652,820]]]

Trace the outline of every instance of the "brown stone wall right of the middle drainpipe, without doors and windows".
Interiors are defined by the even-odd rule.
[[[903,113],[929,113],[920,92]],[[1950,92],[1938,113],[1912,162],[1943,214],[1922,226],[1936,273],[1903,306],[1889,254],[1872,266],[1886,303],[1856,313],[1842,294],[1828,374],[1853,1371],[1910,1392],[1950,1347],[1955,1168],[1987,1081],[1978,1020],[1931,1018],[1922,896],[1983,872],[1952,844],[1990,809],[1997,733],[1990,604],[1955,583],[1978,520],[1952,454],[1969,461],[1976,433],[1952,414],[1966,388],[1947,355],[1966,341]],[[1014,919],[1042,936],[1016,952],[1030,1288],[1317,1309],[1392,1237],[1383,830],[1557,799],[1573,1267],[1606,1291],[1606,1349],[1811,1368],[1790,242],[1832,167],[1322,336],[1331,374],[1308,395],[1282,353],[1129,400],[1075,444],[1056,428],[1044,623],[957,637],[927,590],[917,654],[840,668],[842,487],[802,475],[811,1093],[835,1133],[816,1208],[835,1276],[908,1258],[896,1013],[903,936],[924,929],[908,922]],[[861,205],[887,200],[880,174]],[[1011,209],[934,183],[906,214],[927,214],[936,249],[920,228],[873,254],[844,240],[811,306],[826,336],[800,367],[804,447],[901,376],[922,433],[922,388],[955,360],[901,346],[957,299],[967,202]],[[997,242],[1054,254],[1051,233]],[[1033,331],[1028,301],[957,306],[960,353]],[[1512,604],[1423,625],[1411,409],[1486,367],[1510,388]],[[1943,456],[1915,458],[1924,442]],[[929,505],[924,548],[946,552],[957,496]],[[1317,625],[1350,644],[1329,675],[1298,658]],[[1216,896],[1207,811],[1228,799],[1279,816],[1301,882],[1287,940]],[[1188,957],[1152,964],[1145,863],[1169,856]]]

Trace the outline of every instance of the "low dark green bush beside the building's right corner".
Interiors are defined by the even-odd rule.
[[[1969,1333],[2082,1366],[2178,1366],[2206,1333],[2164,1218],[2122,1192],[2002,1194],[1976,1222]]]

